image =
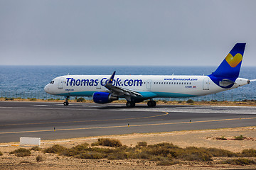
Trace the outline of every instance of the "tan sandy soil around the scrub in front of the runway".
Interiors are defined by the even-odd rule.
[[[247,140],[231,140],[234,136],[247,137]],[[225,137],[228,140],[216,140],[216,137]],[[134,147],[137,142],[145,141],[148,145],[160,142],[170,142],[178,147],[215,147],[228,149],[232,152],[241,152],[242,149],[256,149],[256,126],[245,128],[228,128],[219,130],[191,130],[178,132],[162,132],[150,134],[111,135],[101,136],[118,139],[123,145]],[[83,142],[96,142],[99,137],[84,137],[68,140],[41,141],[41,147],[46,148],[58,144],[64,147],[73,147]],[[20,148],[18,142],[0,143],[0,169],[256,169],[256,165],[231,166],[220,164],[223,159],[215,157],[213,162],[183,162],[173,166],[156,166],[156,162],[144,160],[91,160],[61,157],[56,154],[43,154],[34,152],[29,157],[16,157],[9,152]],[[24,146],[23,146],[24,147]],[[30,148],[31,146],[26,146]],[[41,155],[43,162],[36,162],[36,157]],[[255,158],[252,158],[256,161]]]

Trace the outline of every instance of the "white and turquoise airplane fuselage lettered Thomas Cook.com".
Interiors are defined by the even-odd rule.
[[[108,91],[105,84],[110,75],[67,75],[56,77],[47,84],[48,94],[60,96],[92,96],[96,91]],[[238,78],[229,89],[248,84],[247,79]],[[193,97],[215,94],[224,89],[208,76],[159,76],[159,75],[116,75],[113,86],[137,91],[142,98]]]

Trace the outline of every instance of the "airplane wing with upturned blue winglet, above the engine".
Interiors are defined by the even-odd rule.
[[[124,89],[122,87],[113,86],[112,82],[113,82],[115,73],[116,72],[113,72],[112,76],[110,77],[110,79],[107,81],[107,84],[105,85],[105,87],[110,90],[110,93],[112,95],[114,95],[114,96],[125,96],[125,98],[138,97],[138,96],[142,97],[142,94],[139,94],[136,91],[131,91],[129,89]]]

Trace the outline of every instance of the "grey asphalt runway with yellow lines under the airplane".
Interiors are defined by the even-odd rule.
[[[0,102],[0,142],[235,128],[256,125],[256,107]]]

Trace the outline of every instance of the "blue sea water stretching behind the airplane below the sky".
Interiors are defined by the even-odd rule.
[[[208,75],[216,67],[177,67],[177,66],[0,66],[0,96],[21,98],[63,98],[50,96],[43,90],[53,78],[67,74],[112,74],[117,75]],[[256,79],[256,67],[242,67],[240,77]],[[160,98],[181,100],[180,98]],[[186,99],[186,98],[185,98]],[[242,101],[256,100],[256,81],[238,89],[219,94],[192,98],[195,101]]]

